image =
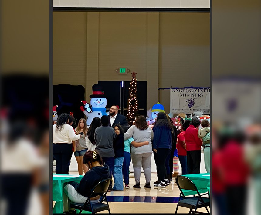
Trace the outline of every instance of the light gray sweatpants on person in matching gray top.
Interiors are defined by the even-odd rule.
[[[146,183],[151,182],[151,152],[143,154],[131,154],[136,184],[140,183],[141,167],[143,168]]]

